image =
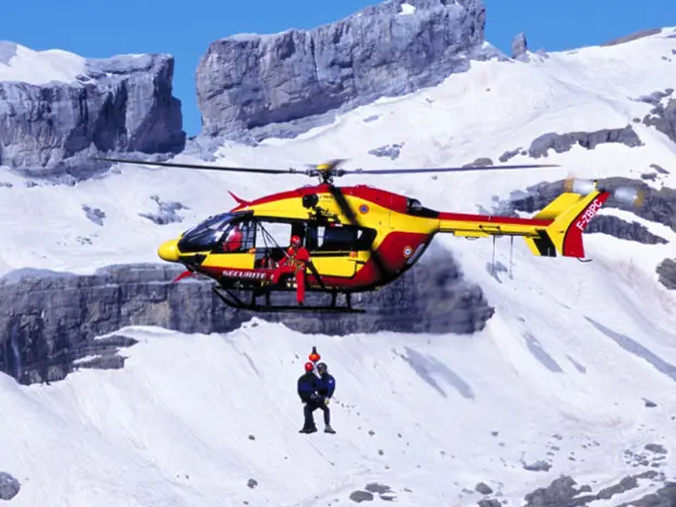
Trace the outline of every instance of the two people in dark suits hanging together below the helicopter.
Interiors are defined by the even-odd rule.
[[[303,408],[305,424],[299,433],[317,432],[312,414],[317,409],[321,409],[324,412],[324,433],[335,433],[331,427],[331,411],[328,406],[335,389],[335,379],[328,374],[327,365],[323,363],[320,363],[318,366],[320,377],[315,375],[313,369],[315,365],[312,363],[306,363],[305,374],[298,379],[298,396],[305,404]]]

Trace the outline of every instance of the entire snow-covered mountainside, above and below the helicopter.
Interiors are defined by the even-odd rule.
[[[228,144],[220,158],[254,166],[335,156],[351,158],[352,167],[459,165],[497,162],[547,132],[632,125],[643,145],[549,152],[546,162],[561,168],[342,182],[377,185],[459,212],[490,208],[494,196],[570,173],[638,178],[657,164],[671,173],[654,185],[674,188],[676,144],[632,121],[651,109],[637,97],[676,82],[673,33],[529,63],[473,63],[436,89],[380,101],[299,139]],[[368,153],[392,143],[403,144],[394,161]],[[0,185],[0,272],[91,272],[156,261],[162,240],[233,207],[226,190],[253,198],[310,182],[119,169],[73,187],[28,187],[0,172],[0,182],[10,185]],[[153,194],[187,207],[176,211],[183,222],[156,225],[140,216],[159,211]],[[95,208],[105,213],[103,225]],[[23,485],[12,505],[345,505],[351,492],[378,482],[394,491],[399,505],[460,507],[476,504],[479,495],[463,488],[479,481],[508,505],[522,505],[524,494],[560,474],[594,494],[645,470],[673,480],[676,296],[656,282],[654,268],[674,256],[676,234],[666,227],[655,234],[669,243],[585,235],[591,263],[534,258],[517,239],[513,278],[508,239],[497,241],[494,276],[490,241],[438,238],[496,307],[486,330],[472,337],[308,337],[264,322],[228,337],[126,329],[140,343],[124,352],[121,370],[80,372],[52,386],[20,387],[1,377],[0,434],[10,437],[0,467]],[[297,434],[295,381],[312,343],[337,379],[337,435]],[[647,444],[664,446],[666,455]],[[636,464],[642,461],[636,453],[648,464]],[[665,456],[664,464],[651,465],[660,463],[653,455]],[[538,460],[550,469],[524,469]],[[252,488],[249,479],[258,482]],[[638,488],[591,505],[618,505],[654,490],[650,484],[639,480]]]

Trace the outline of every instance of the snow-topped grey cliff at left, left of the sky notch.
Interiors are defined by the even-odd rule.
[[[87,60],[0,43],[0,165],[80,178],[109,166],[97,154],[180,152],[173,76],[168,55]]]

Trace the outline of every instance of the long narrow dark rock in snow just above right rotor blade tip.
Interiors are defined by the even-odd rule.
[[[531,143],[529,155],[539,158],[548,156],[549,150],[564,153],[570,151],[574,144],[593,150],[603,143],[621,143],[630,148],[643,144],[633,128],[628,125],[622,129],[603,129],[594,132],[545,133]]]

